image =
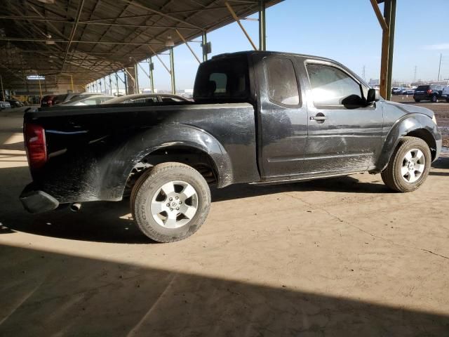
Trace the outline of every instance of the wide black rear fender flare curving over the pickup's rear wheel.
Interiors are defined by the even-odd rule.
[[[217,170],[218,187],[225,187],[234,181],[229,154],[215,137],[188,124],[168,124],[142,130],[105,157],[100,165],[100,199],[120,200],[133,168],[152,152],[170,146],[192,147],[208,154]]]

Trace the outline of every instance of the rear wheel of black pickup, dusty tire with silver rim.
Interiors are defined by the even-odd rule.
[[[165,190],[165,192],[164,192]],[[191,166],[154,166],[136,181],[130,196],[135,223],[156,242],[175,242],[194,234],[210,209],[210,190]]]

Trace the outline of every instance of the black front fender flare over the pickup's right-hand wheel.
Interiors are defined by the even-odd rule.
[[[427,115],[418,113],[407,114],[403,118],[398,119],[398,121],[396,121],[396,123],[389,129],[374,172],[378,173],[384,171],[401,138],[418,130],[424,130],[424,132],[429,133],[435,143],[436,140],[441,139],[441,136],[438,136],[439,133],[436,124],[434,124]]]

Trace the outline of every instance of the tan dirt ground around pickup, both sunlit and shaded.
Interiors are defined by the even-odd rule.
[[[0,112],[0,336],[449,336],[449,157],[408,194],[214,190],[199,232],[154,244],[126,200],[25,213],[21,124]]]

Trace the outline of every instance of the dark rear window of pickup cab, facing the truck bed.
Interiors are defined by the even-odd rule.
[[[249,98],[246,56],[210,60],[196,74],[194,100],[242,102]]]

